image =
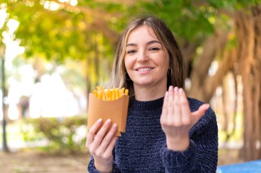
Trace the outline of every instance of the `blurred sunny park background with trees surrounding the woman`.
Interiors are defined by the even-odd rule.
[[[218,165],[261,159],[260,0],[1,0],[1,172],[86,172],[88,93],[138,14],[176,36],[188,96],[216,112]]]

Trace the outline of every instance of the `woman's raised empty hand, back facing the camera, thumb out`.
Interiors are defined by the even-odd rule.
[[[170,86],[165,94],[160,119],[168,149],[183,151],[190,146],[190,129],[208,108],[209,104],[204,104],[197,111],[191,112],[183,89]]]

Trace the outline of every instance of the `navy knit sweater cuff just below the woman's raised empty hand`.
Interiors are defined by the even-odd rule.
[[[167,148],[167,145],[165,144],[161,148],[161,159],[163,161],[163,165],[165,165],[165,168],[167,170],[177,169],[177,170],[183,170],[184,167],[186,168],[193,168],[193,165],[190,164],[195,163],[195,157],[196,157],[196,145],[195,143],[190,139],[190,146],[187,150],[181,152],[181,151],[174,151],[169,150]],[[188,167],[190,165],[190,167]]]

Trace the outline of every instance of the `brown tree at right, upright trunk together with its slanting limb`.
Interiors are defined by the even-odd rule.
[[[203,54],[193,66],[192,87],[188,91],[188,96],[209,102],[227,72],[235,68],[235,65],[238,66],[243,87],[243,155],[245,161],[250,161],[261,158],[261,10],[260,7],[253,7],[249,11],[234,12],[231,16],[236,24],[231,29],[232,32],[234,29],[236,32],[236,46],[230,50],[220,49],[218,53],[218,47],[222,48],[222,46],[215,48],[213,44],[216,40],[213,38],[207,40]],[[216,74],[209,76],[210,64],[222,51],[224,53],[220,57],[223,58]]]

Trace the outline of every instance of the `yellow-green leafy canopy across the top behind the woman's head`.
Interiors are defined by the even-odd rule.
[[[57,10],[45,8],[45,0],[3,2],[7,3],[10,18],[20,22],[16,38],[25,46],[25,57],[41,55],[58,64],[65,63],[66,59],[85,59],[88,85],[94,87],[96,83],[108,81],[115,53],[113,38],[120,36],[131,17],[137,14],[159,16],[178,42],[202,46],[216,30],[229,29],[231,18],[222,10],[245,10],[261,0],[144,0],[135,3],[78,0],[76,6],[55,1],[62,4]],[[97,58],[99,63],[95,61]],[[105,65],[102,62],[106,62]]]

